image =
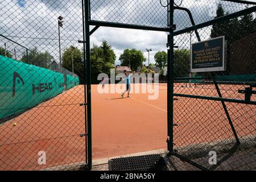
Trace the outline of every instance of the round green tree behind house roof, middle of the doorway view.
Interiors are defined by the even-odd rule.
[[[121,66],[129,66],[132,71],[136,71],[139,66],[146,61],[146,58],[143,55],[143,52],[133,49],[125,49],[120,55],[119,60],[121,61]]]

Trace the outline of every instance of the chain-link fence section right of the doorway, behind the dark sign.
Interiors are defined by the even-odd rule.
[[[184,1],[182,7],[200,24],[253,5]],[[174,11],[177,31],[192,26],[188,14],[181,11]],[[239,103],[246,100],[242,90],[255,90],[255,26],[256,16],[251,13],[174,36],[178,46],[174,49],[174,151],[206,169],[255,170],[256,96],[250,94],[252,102]],[[199,40],[209,40],[204,45],[209,47],[210,39],[220,36],[225,36],[225,71],[193,72],[190,59],[195,52],[190,48]],[[210,59],[207,52],[205,59]],[[213,154],[215,162],[210,158]]]

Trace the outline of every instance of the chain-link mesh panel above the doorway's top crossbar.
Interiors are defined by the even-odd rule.
[[[167,1],[164,1],[167,4]],[[90,1],[90,19],[102,22],[168,27],[166,7],[159,1]]]

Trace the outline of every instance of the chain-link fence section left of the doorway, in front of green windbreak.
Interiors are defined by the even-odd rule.
[[[0,169],[88,168],[84,1],[0,5]]]

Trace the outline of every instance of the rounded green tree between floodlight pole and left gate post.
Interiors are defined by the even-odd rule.
[[[63,52],[61,66],[68,71],[73,71],[81,79],[84,78],[84,63],[82,61],[82,51],[75,46],[66,48]],[[73,63],[72,63],[73,57]]]

